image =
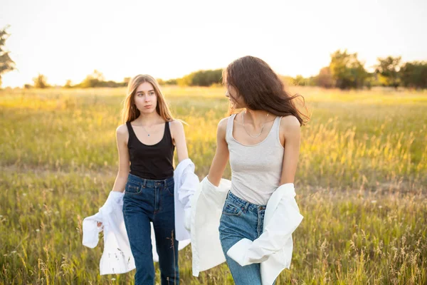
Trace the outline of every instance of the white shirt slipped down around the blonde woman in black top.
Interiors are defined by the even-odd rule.
[[[185,212],[190,209],[190,197],[199,185],[199,177],[194,174],[194,163],[190,159],[182,160],[174,171],[175,232],[179,241],[179,250],[190,243],[189,232],[184,227]],[[130,250],[125,220],[123,217],[123,192],[110,192],[99,212],[83,219],[83,245],[94,248],[99,233],[104,231],[104,250],[100,260],[100,275],[122,274],[135,269],[135,260]],[[186,210],[187,209],[187,210]],[[102,222],[102,227],[97,227]],[[159,261],[156,251],[156,239],[152,226],[153,260]]]

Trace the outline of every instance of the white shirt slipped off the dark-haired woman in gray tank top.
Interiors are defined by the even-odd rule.
[[[216,187],[204,178],[191,201],[191,248],[193,275],[223,263],[219,240],[219,219],[231,181],[221,180]],[[265,209],[263,234],[253,242],[241,239],[233,245],[228,257],[245,266],[260,263],[263,285],[271,285],[285,268],[290,268],[292,259],[292,232],[302,221],[295,202],[292,183],[278,187],[270,197]]]

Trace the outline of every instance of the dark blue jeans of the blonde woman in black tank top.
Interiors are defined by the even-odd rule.
[[[135,284],[153,285],[151,225],[156,235],[162,285],[179,284],[178,241],[175,239],[174,177],[147,180],[127,177],[123,215],[135,258]]]

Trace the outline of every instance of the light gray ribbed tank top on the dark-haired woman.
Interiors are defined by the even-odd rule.
[[[276,117],[267,138],[255,145],[243,145],[233,138],[234,118],[228,118],[226,142],[230,152],[231,192],[252,204],[265,205],[279,187],[283,165],[280,118]]]

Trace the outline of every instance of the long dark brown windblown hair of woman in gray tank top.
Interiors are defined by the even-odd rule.
[[[309,120],[295,106],[295,99],[302,99],[305,107],[302,95],[290,95],[279,76],[260,58],[243,56],[230,63],[223,70],[223,84],[236,88],[237,95],[242,96],[251,110],[265,110],[278,116],[294,115],[300,125]]]

